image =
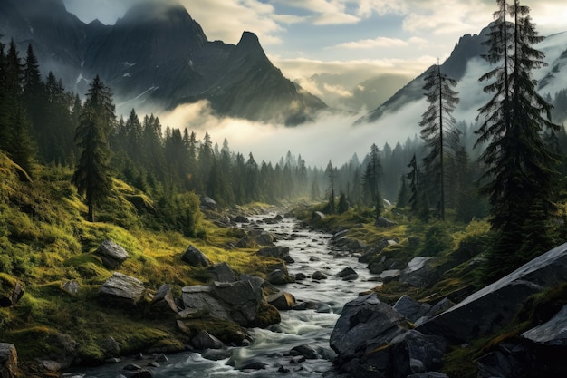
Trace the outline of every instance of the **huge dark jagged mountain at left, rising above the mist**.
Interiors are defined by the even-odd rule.
[[[62,0],[2,0],[0,33],[20,51],[33,44],[43,73],[83,94],[96,75],[127,113],[206,100],[218,115],[296,125],[327,108],[289,81],[255,34],[210,42],[182,5],[142,2],[116,24],[85,24]]]

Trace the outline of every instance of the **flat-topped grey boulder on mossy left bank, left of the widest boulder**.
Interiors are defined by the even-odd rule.
[[[104,305],[130,308],[139,303],[146,288],[138,278],[114,272],[99,290],[99,299]]]

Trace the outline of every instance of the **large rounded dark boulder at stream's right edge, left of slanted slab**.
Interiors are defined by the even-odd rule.
[[[344,305],[329,343],[344,363],[388,344],[407,329],[407,320],[373,293]]]

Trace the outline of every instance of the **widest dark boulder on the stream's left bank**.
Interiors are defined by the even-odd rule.
[[[227,320],[245,327],[280,321],[277,310],[267,304],[259,280],[245,277],[230,283],[186,286],[182,293],[184,312],[190,311],[194,316]]]

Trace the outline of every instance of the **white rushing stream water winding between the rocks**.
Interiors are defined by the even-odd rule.
[[[282,322],[267,329],[252,329],[253,343],[231,348],[232,356],[221,361],[210,361],[197,353],[168,355],[168,361],[152,367],[156,378],[208,378],[208,377],[334,377],[329,337],[339,318],[342,306],[360,292],[377,286],[368,269],[345,252],[333,249],[330,236],[301,228],[295,219],[283,219],[275,224],[264,224],[262,218],[252,220],[278,238],[276,245],[290,247],[295,262],[288,264],[292,274],[303,273],[307,279],[279,286],[292,293],[298,302],[314,302],[317,310],[282,311]],[[247,227],[247,225],[243,225]],[[355,281],[337,277],[345,267],[352,267],[359,275]],[[327,279],[313,281],[312,274],[321,271]],[[293,363],[290,350],[307,344],[322,358]],[[105,365],[96,369],[83,369],[81,373],[66,374],[75,378],[116,378],[125,363]],[[249,363],[267,363],[262,370],[242,370]],[[141,364],[141,363],[140,363]],[[143,364],[142,364],[143,366]]]

